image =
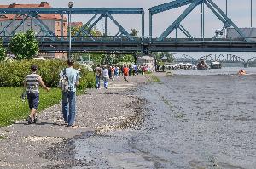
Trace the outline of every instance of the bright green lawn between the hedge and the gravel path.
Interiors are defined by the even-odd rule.
[[[0,87],[0,126],[8,126],[17,120],[25,119],[29,115],[27,99],[20,100],[23,87]],[[40,102],[38,111],[58,104],[61,101],[61,89],[51,88],[49,93],[40,88]]]

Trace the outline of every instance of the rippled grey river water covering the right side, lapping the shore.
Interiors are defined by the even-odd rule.
[[[255,169],[256,76],[198,73],[176,71],[141,87],[143,125],[85,133],[75,150],[87,166],[74,168]]]

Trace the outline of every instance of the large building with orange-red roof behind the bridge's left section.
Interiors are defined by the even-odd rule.
[[[49,3],[41,2],[39,4],[19,4],[19,3],[10,3],[9,5],[1,5],[0,8],[51,8]],[[15,20],[14,20],[15,18]],[[0,36],[8,36],[15,28],[23,23],[15,30],[15,32],[25,32],[32,29],[37,36],[44,36],[44,31],[42,30],[41,26],[38,25],[38,22],[35,22],[30,17],[26,20],[25,15],[16,16],[16,14],[0,14],[0,30],[5,30],[0,34]],[[47,25],[49,30],[55,33],[56,36],[67,36],[67,18],[61,16],[61,14],[39,14],[38,19],[41,20],[44,25]],[[12,22],[10,25],[9,23]],[[62,25],[63,24],[63,28]],[[9,25],[8,27],[6,27]],[[55,48],[53,47],[53,52]],[[42,54],[40,54],[42,55]],[[44,55],[44,54],[43,54]],[[46,54],[49,57],[55,58],[63,58],[66,57],[67,54],[65,53],[52,53]]]

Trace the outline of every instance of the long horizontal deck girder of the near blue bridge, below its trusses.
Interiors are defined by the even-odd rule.
[[[68,51],[69,39],[67,37],[58,37],[54,41],[48,37],[41,37],[39,46],[42,51],[51,51],[55,46],[56,51]],[[144,39],[133,37],[131,41],[128,37],[96,37],[91,40],[90,37],[72,37],[72,51],[93,50],[99,48],[103,51],[138,51],[138,52],[256,52],[256,42],[217,42],[217,41],[157,41],[157,39]],[[62,40],[63,39],[63,40]],[[9,39],[3,39],[3,45],[8,47]],[[74,48],[76,47],[76,48]],[[132,48],[131,48],[132,47]]]

